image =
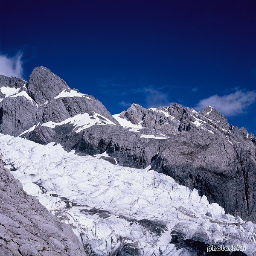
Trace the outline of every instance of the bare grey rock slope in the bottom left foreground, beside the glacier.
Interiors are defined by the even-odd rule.
[[[85,255],[71,227],[23,191],[0,163],[0,255]]]

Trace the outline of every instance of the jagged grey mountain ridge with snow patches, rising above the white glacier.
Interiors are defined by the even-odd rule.
[[[79,154],[107,151],[102,158],[122,166],[151,164],[230,214],[256,221],[255,137],[230,126],[214,108],[197,112],[178,104],[157,109],[133,104],[113,118],[101,102],[70,89],[47,68],[35,68],[28,83],[0,79],[1,92],[7,86],[16,90],[0,102],[3,134],[44,145],[54,141]]]

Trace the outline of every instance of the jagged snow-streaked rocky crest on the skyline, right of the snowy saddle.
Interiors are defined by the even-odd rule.
[[[223,132],[228,131],[230,127],[227,118],[210,106],[197,112],[193,108],[183,108],[177,103],[171,103],[169,107],[149,109],[133,104],[127,111],[123,111],[120,117],[165,134],[178,134],[180,131],[194,129]]]

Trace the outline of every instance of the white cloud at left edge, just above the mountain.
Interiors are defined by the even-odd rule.
[[[21,52],[14,57],[0,55],[0,75],[23,78],[21,57]]]

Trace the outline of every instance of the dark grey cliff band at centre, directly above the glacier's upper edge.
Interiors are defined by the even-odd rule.
[[[108,151],[119,165],[143,169],[151,163],[161,142],[140,135],[114,125],[94,125],[80,133],[81,137],[72,149],[90,155]]]

